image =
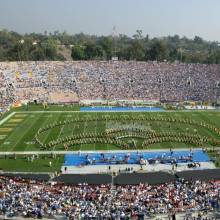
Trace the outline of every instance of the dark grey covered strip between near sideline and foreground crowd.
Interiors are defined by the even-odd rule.
[[[170,174],[166,172],[149,172],[149,173],[121,173],[117,176],[110,174],[61,174],[52,178],[50,174],[33,174],[33,173],[1,173],[0,176],[15,177],[24,180],[52,181],[64,184],[114,184],[114,185],[138,185],[140,183],[157,185],[171,183],[177,179],[212,181],[220,180],[220,169],[207,170],[190,170]]]

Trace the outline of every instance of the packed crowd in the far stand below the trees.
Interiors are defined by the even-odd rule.
[[[219,72],[220,65],[168,62],[2,62],[0,105],[9,94],[50,102],[213,101],[220,95]]]

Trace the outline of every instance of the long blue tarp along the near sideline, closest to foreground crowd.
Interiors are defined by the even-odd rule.
[[[118,163],[125,163],[125,159],[127,159],[127,164],[138,164],[140,158],[143,160],[163,160],[169,161],[175,160],[178,163],[183,163],[184,158],[189,158],[192,156],[191,162],[209,162],[210,159],[206,153],[202,150],[194,150],[190,152],[189,150],[186,151],[173,151],[171,154],[170,151],[158,151],[158,152],[114,152],[114,153],[75,153],[75,154],[66,154],[64,157],[64,166],[80,166],[88,164],[88,161],[94,161],[94,165],[111,165],[111,164],[118,164]],[[166,163],[166,162],[165,162]]]

